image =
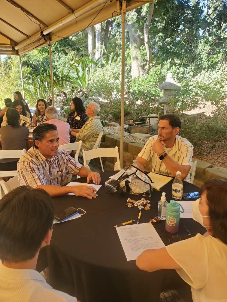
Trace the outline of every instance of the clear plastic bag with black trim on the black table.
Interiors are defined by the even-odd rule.
[[[133,165],[121,169],[105,182],[105,187],[107,193],[118,192],[123,196],[134,194],[150,197],[153,189],[152,180],[146,172]]]

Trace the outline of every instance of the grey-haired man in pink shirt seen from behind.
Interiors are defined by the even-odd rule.
[[[54,107],[47,107],[45,110],[46,121],[43,124],[54,124],[58,129],[59,136],[59,146],[70,143],[70,126],[63,120],[58,120],[58,111]],[[72,157],[74,153],[72,151],[67,151]]]

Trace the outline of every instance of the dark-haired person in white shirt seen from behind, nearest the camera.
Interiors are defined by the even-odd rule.
[[[51,197],[42,189],[21,186],[0,200],[1,302],[77,302],[35,271],[39,250],[50,244],[53,220]]]

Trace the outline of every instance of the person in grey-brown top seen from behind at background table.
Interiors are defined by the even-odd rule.
[[[6,111],[7,125],[1,127],[2,150],[27,150],[26,141],[28,140],[29,130],[20,125],[20,114],[10,108]],[[1,171],[17,170],[17,158],[0,159]]]

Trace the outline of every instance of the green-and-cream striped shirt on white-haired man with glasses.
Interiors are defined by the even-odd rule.
[[[80,140],[83,142],[79,156],[82,156],[83,149],[84,151],[87,151],[94,147],[100,132],[103,132],[103,125],[100,122],[100,117],[90,117],[79,130],[79,133],[76,134],[76,142],[79,142]],[[99,142],[98,147],[100,146],[100,143],[101,142]]]

